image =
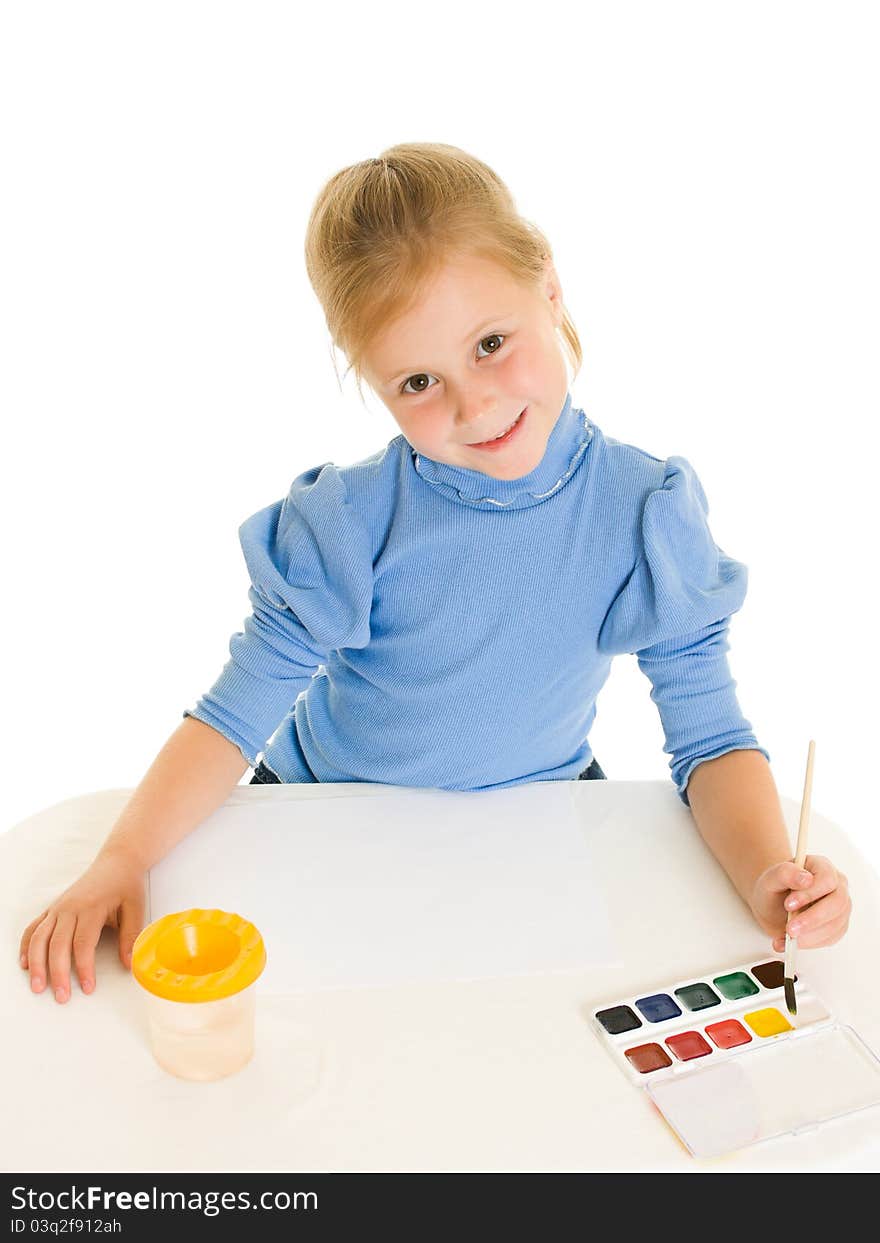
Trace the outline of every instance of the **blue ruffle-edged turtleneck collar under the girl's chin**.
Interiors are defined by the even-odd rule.
[[[480,470],[434,461],[410,447],[413,464],[426,484],[450,501],[484,510],[523,510],[558,492],[583,461],[593,428],[583,410],[572,405],[572,394],[549,434],[544,456],[520,479],[492,479]]]

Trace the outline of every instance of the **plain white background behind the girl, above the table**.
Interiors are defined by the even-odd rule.
[[[241,628],[239,523],[396,434],[302,245],[332,173],[435,140],[549,237],[575,404],[694,465],[749,569],[743,712],[794,799],[815,740],[813,805],[878,866],[875,12],[4,6],[0,828],[137,784]],[[669,778],[649,690],[618,659],[612,778]]]

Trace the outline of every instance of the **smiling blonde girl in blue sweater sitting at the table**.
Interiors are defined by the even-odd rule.
[[[147,871],[249,766],[442,789],[604,777],[588,738],[618,653],[650,679],[679,796],[773,948],[791,911],[802,947],[838,941],[846,879],[791,861],[727,666],[746,567],[715,544],[686,459],[573,404],[551,247],[503,183],[454,147],[393,147],[324,185],[306,264],[401,435],[242,525],[252,614],[93,864],[25,929],[32,989],[67,1001],[72,957],[92,992],[104,925],[131,965]]]

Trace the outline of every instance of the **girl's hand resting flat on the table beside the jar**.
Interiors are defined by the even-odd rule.
[[[118,929],[119,958],[132,965],[132,947],[144,926],[147,874],[117,854],[102,854],[24,931],[20,962],[41,993],[51,982],[56,1002],[71,994],[71,955],[83,993],[94,989],[94,947],[103,927]]]

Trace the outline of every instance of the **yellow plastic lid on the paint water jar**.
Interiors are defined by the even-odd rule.
[[[173,1002],[215,1002],[240,993],[266,966],[252,924],[229,911],[193,907],[148,924],[132,950],[132,973]]]

